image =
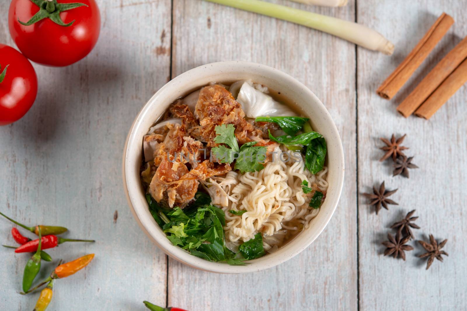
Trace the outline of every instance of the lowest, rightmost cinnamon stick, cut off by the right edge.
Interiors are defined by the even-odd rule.
[[[446,101],[467,82],[467,59],[465,59],[452,74],[433,92],[430,97],[415,111],[415,115],[430,119]]]

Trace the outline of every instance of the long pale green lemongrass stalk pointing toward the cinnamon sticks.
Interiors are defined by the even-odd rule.
[[[281,6],[260,0],[206,0],[235,7],[241,10],[287,20],[292,23],[310,27],[333,34],[373,51],[391,55],[394,45],[373,29],[363,25],[341,20],[335,17],[311,13],[291,7]]]

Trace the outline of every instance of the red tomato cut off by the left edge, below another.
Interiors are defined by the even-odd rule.
[[[13,47],[0,44],[0,74],[7,65],[5,78],[0,83],[0,125],[19,120],[37,95],[37,76],[31,63]]]

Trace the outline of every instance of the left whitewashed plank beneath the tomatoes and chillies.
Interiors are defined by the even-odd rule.
[[[96,253],[86,270],[56,282],[50,310],[142,310],[142,300],[166,302],[167,257],[127,207],[121,156],[133,118],[170,75],[171,1],[99,5],[96,48],[70,67],[35,65],[35,105],[20,122],[0,129],[0,209],[24,223],[66,225],[65,237],[97,240],[50,250],[64,260]],[[2,1],[0,11],[8,6]],[[13,45],[5,21],[0,42]],[[0,219],[2,243],[14,244],[11,227]],[[38,294],[18,294],[28,257],[0,250],[0,309],[33,309]],[[55,264],[43,264],[39,278]]]

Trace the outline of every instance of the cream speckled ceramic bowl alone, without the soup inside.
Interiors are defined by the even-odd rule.
[[[154,121],[161,116],[170,103],[181,96],[207,85],[209,82],[228,84],[233,81],[252,79],[277,92],[296,104],[304,116],[311,120],[314,130],[321,133],[327,142],[327,181],[329,188],[321,210],[308,229],[300,232],[290,243],[278,251],[246,262],[244,266],[214,263],[190,255],[172,245],[149,213],[148,203],[140,182],[142,161],[142,139]],[[123,184],[128,204],[141,229],[167,255],[191,267],[220,273],[244,273],[274,267],[294,257],[310,245],[333,216],[344,182],[344,153],[336,125],[325,106],[308,88],[288,74],[256,63],[244,61],[222,61],[200,66],[180,74],[164,85],[144,105],[136,116],[128,133],[123,153]]]

